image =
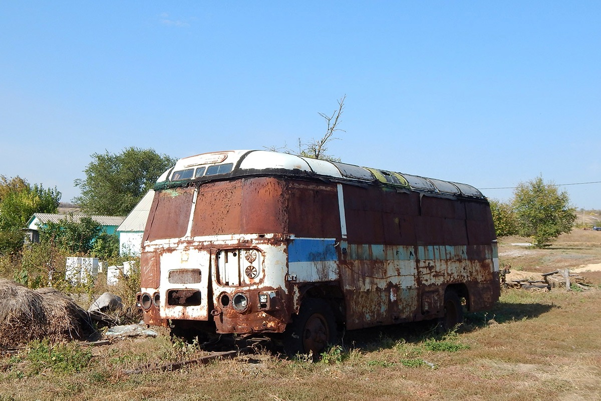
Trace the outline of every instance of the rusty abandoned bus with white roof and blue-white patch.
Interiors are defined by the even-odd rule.
[[[450,328],[499,298],[489,203],[469,185],[233,150],[180,159],[154,189],[138,301],[178,335],[318,353],[342,329]]]

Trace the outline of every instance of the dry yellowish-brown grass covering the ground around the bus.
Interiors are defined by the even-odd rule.
[[[597,242],[568,239],[527,256],[533,271],[599,253]],[[524,260],[502,256],[515,249],[523,250],[502,242],[501,262]],[[204,355],[174,346],[166,332],[95,348],[90,366],[69,375],[28,376],[26,361],[4,358],[0,400],[601,400],[601,289],[505,290],[493,310],[468,314],[456,334],[441,337],[430,329],[416,324],[349,333],[329,363],[261,352],[176,372],[124,375],[123,369],[142,364]]]

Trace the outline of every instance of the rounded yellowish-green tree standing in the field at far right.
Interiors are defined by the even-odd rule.
[[[561,233],[569,233],[576,220],[576,209],[570,206],[567,192],[558,191],[540,176],[517,185],[513,208],[519,234],[530,237],[537,248],[548,246]]]

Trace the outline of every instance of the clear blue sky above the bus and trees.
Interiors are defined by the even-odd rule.
[[[0,174],[63,201],[93,153],[294,147],[601,209],[601,1],[0,0]]]

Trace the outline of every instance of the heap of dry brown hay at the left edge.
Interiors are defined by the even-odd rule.
[[[58,291],[0,279],[0,345],[82,339],[93,330],[90,315]]]

